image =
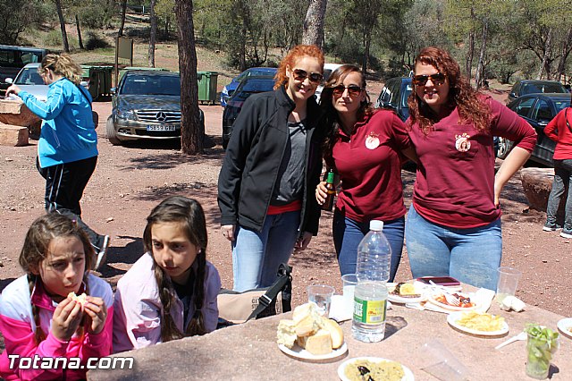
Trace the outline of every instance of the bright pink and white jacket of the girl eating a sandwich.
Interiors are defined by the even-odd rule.
[[[113,292],[109,284],[96,275],[88,275],[89,295],[102,298],[107,307],[105,327],[99,334],[89,334],[86,330],[82,336],[74,334],[69,342],[56,339],[51,332],[52,318],[57,303],[52,301],[41,282],[37,282],[33,291],[29,292],[26,275],[8,284],[0,295],[0,331],[4,334],[5,350],[0,356],[0,377],[6,380],[53,380],[85,379],[87,369],[32,369],[32,367],[10,368],[8,355],[20,358],[80,358],[82,366],[88,358],[101,358],[111,354],[113,334]],[[38,306],[39,322],[46,333],[46,340],[37,344],[34,338],[36,324],[32,314],[31,303]],[[19,359],[20,359],[19,358]],[[95,363],[94,363],[95,364]]]

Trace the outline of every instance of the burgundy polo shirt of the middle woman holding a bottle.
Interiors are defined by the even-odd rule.
[[[404,216],[398,152],[410,146],[405,124],[388,110],[357,123],[351,136],[340,130],[332,150],[341,179],[336,207],[358,222]]]

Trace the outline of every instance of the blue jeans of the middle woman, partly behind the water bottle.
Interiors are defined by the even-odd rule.
[[[391,246],[390,282],[393,282],[397,268],[400,266],[404,230],[404,217],[383,221],[383,234],[387,241],[390,241]],[[361,223],[354,221],[336,209],[333,213],[332,232],[341,275],[354,274],[357,264],[357,246],[369,232],[369,221]]]

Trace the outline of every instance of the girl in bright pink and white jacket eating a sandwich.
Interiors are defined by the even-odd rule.
[[[84,379],[86,365],[111,354],[113,293],[89,273],[94,258],[69,217],[54,212],[31,224],[20,254],[27,274],[0,296],[0,377]]]

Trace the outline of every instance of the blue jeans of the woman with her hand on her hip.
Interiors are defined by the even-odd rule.
[[[409,207],[405,243],[414,278],[453,276],[496,290],[501,265],[501,218],[481,227],[457,229],[433,224]]]

